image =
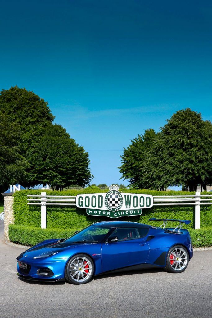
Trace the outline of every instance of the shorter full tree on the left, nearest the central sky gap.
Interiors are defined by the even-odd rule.
[[[57,124],[46,126],[32,158],[29,175],[34,184],[39,180],[52,189],[63,190],[72,184],[85,187],[93,178],[88,153]]]

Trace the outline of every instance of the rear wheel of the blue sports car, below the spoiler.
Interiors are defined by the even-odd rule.
[[[168,251],[165,269],[169,273],[182,273],[188,266],[188,261],[187,249],[182,245],[175,245]]]

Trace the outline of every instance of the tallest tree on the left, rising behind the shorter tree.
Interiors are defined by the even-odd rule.
[[[19,161],[17,170],[14,167],[15,170],[10,169],[10,173],[8,171],[6,173],[11,175],[14,171],[17,173],[20,171],[22,177],[20,176],[19,180],[24,186],[35,184],[33,183],[35,178],[31,179],[32,174],[28,173],[33,169],[31,156],[44,134],[44,128],[54,119],[47,105],[48,103],[35,93],[17,86],[2,90],[0,94],[0,115],[5,116],[8,125],[12,126],[19,152],[24,158],[24,161]],[[4,127],[1,134],[7,131],[5,129]],[[8,170],[9,166],[6,167]]]

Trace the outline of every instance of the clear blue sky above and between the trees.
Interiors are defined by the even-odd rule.
[[[93,183],[179,109],[212,120],[211,1],[2,1],[0,89],[25,87],[84,146]]]

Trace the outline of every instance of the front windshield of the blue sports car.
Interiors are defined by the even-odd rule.
[[[100,243],[111,230],[109,227],[91,225],[66,239],[66,243]]]

